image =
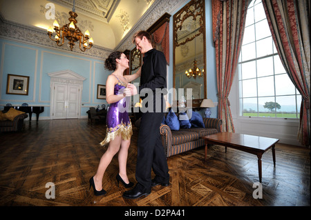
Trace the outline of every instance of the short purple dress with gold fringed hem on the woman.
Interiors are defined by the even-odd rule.
[[[120,81],[120,79],[117,80],[118,82],[115,84],[114,94],[119,94],[119,90],[126,88],[126,83]],[[132,123],[125,108],[126,97],[120,101],[111,103],[106,117],[106,137],[104,141],[100,142],[101,146],[105,146],[119,134],[121,134],[122,140],[131,138],[133,134]]]

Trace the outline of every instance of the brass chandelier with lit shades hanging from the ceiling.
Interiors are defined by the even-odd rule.
[[[59,23],[55,20],[53,23],[54,30],[56,32],[55,38],[53,36],[54,30],[50,27],[48,28],[48,36],[52,41],[55,41],[57,46],[62,46],[65,42],[65,37],[69,41],[68,44],[70,46],[70,50],[73,51],[73,46],[75,46],[75,42],[79,41],[79,48],[84,52],[86,49],[90,49],[93,46],[93,38],[89,39],[90,32],[86,30],[84,34],[82,34],[81,30],[77,27],[77,13],[75,12],[75,0],[73,1],[73,10],[69,12],[70,21],[68,24],[59,28]],[[89,46],[88,46],[89,43]]]

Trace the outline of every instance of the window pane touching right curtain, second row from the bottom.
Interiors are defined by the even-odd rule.
[[[295,94],[295,86],[288,77],[288,74],[275,76],[276,95]]]

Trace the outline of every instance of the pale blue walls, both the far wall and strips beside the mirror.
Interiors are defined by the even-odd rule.
[[[205,17],[207,98],[217,102],[215,48],[213,46],[211,26],[211,0],[205,0]],[[170,19],[169,30],[170,36],[173,36],[173,14]],[[60,70],[71,70],[86,78],[83,82],[82,91],[82,116],[86,116],[86,111],[90,106],[106,104],[106,100],[97,99],[97,84],[106,84],[106,78],[111,73],[104,69],[104,60],[0,39],[0,61],[0,110],[3,109],[3,106],[6,106],[6,103],[12,103],[14,106],[26,102],[28,105],[44,106],[45,110],[40,114],[40,117],[49,117],[50,77],[48,77],[48,73]],[[170,37],[169,88],[173,87],[172,73],[173,37]],[[8,74],[30,77],[28,96],[6,94]],[[217,107],[211,108],[211,112],[211,117],[217,117]]]

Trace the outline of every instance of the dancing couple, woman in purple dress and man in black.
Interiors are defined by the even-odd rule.
[[[95,195],[106,194],[102,188],[102,179],[106,168],[117,152],[119,152],[117,183],[121,181],[125,188],[131,188],[134,185],[126,174],[127,155],[133,134],[132,124],[128,112],[121,111],[118,106],[125,107],[126,97],[138,94],[146,88],[153,91],[153,110],[142,111],[135,171],[137,183],[131,190],[124,192],[123,197],[137,199],[150,194],[153,186],[169,186],[169,168],[159,129],[164,117],[165,106],[161,106],[160,112],[157,112],[159,108],[156,111],[156,103],[165,105],[163,94],[157,94],[160,90],[156,90],[156,88],[167,87],[167,61],[162,52],[153,48],[148,32],[144,30],[137,32],[133,36],[133,43],[144,54],[143,65],[135,74],[123,75],[124,70],[129,68],[129,60],[122,52],[111,53],[105,61],[106,69],[114,70],[114,72],[106,81],[106,101],[110,107],[106,117],[106,137],[100,144],[109,146],[100,159],[96,174],[90,179],[90,189],[93,187]],[[140,86],[137,90],[129,82],[138,77],[140,77]],[[140,98],[147,99],[147,97]],[[151,179],[151,169],[156,174],[154,179]]]

